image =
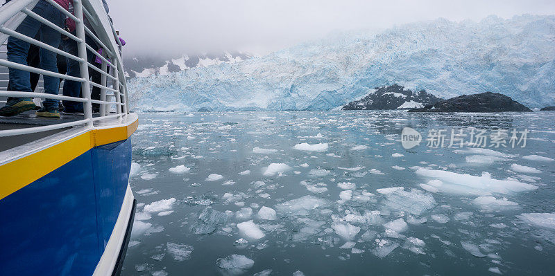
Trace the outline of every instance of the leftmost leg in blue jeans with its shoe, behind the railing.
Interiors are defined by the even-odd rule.
[[[44,13],[44,4],[46,2],[40,1],[37,3],[33,12],[37,14]],[[31,17],[26,17],[21,24],[17,27],[17,33],[26,35],[28,37],[35,37],[39,31],[40,23]],[[7,45],[7,57],[8,61],[15,62],[17,64],[27,64],[27,55],[29,50],[29,44],[23,40],[17,39],[15,37],[8,38]],[[15,68],[9,68],[9,84],[12,91],[23,91],[31,92],[31,82],[29,80],[29,72],[23,71]],[[0,108],[0,116],[15,116],[24,111],[28,111],[35,108],[35,104],[31,98],[11,98],[10,101],[6,102],[4,107]]]

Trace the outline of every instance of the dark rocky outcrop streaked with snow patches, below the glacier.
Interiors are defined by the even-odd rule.
[[[349,102],[341,110],[383,110],[383,109],[413,109],[435,104],[441,100],[422,90],[418,93],[404,89],[403,86],[393,84],[376,87],[376,91],[366,97]]]

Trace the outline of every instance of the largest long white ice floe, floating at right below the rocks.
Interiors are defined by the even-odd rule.
[[[452,194],[489,195],[494,192],[509,194],[510,192],[524,192],[538,188],[535,185],[518,181],[497,180],[491,178],[487,172],[482,173],[482,176],[471,176],[470,174],[457,174],[443,170],[420,168],[416,170],[416,174],[442,181],[443,185],[434,187],[438,188],[441,192]]]

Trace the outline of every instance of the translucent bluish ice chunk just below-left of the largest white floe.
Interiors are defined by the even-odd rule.
[[[409,212],[419,216],[422,212],[436,205],[434,196],[421,190],[413,189],[410,192],[393,190],[386,194],[384,205],[395,211]]]

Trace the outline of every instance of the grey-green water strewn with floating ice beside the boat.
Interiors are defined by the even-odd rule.
[[[122,275],[555,273],[553,112],[139,116]],[[404,127],[445,147],[404,149]],[[447,147],[468,127],[530,133]]]

